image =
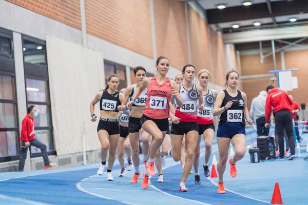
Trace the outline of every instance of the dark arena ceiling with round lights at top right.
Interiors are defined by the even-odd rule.
[[[223,33],[308,25],[308,0],[179,1],[197,2],[204,9],[208,23]]]

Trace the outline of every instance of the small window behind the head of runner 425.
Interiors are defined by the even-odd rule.
[[[127,87],[125,66],[104,60],[106,84],[109,76],[113,73],[118,74],[120,78],[118,90]]]

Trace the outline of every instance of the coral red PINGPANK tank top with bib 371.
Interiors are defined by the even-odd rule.
[[[171,84],[166,77],[162,85],[157,83],[156,77],[152,77],[148,85],[148,97],[143,114],[153,119],[169,117],[169,100],[171,97]]]

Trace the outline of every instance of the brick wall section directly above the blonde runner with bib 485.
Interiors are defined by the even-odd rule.
[[[201,69],[210,71],[210,56],[206,21],[188,6],[188,22],[191,63],[196,66],[197,73]]]

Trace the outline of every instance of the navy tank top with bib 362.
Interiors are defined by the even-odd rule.
[[[225,96],[222,100],[221,108],[223,108],[228,101],[232,101],[232,106],[221,113],[219,118],[219,125],[222,122],[241,122],[245,127],[245,117],[244,117],[244,98],[242,97],[241,91],[238,90],[236,97],[232,97],[228,94],[227,90],[223,91]]]

